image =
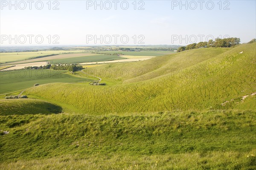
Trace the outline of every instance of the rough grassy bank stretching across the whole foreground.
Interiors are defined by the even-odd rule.
[[[164,169],[173,167],[172,162],[176,162],[174,156],[177,156],[178,160],[185,161],[184,165],[177,164],[185,166],[184,169],[192,166],[194,169],[255,168],[255,157],[250,158],[252,160],[246,158],[249,153],[255,154],[255,116],[256,112],[251,111],[0,116],[0,129],[10,131],[8,135],[1,136],[0,166],[8,167],[9,161],[24,160],[25,163],[15,166],[26,164],[33,167],[35,165],[28,163],[33,162],[32,159],[53,158],[53,162],[79,162],[72,166],[73,169],[81,167],[83,159],[88,161],[86,166],[94,166],[95,169],[128,169],[133,164],[129,161],[138,158],[136,164],[140,164],[142,169],[150,169],[153,161],[159,161],[157,166]],[[12,125],[13,122],[23,123]],[[227,161],[222,159],[223,154],[235,154],[236,157],[231,156]],[[67,155],[76,155],[78,159],[73,160]],[[121,158],[116,162],[118,155]],[[125,161],[125,155],[132,157]],[[187,157],[182,158],[185,155]],[[192,158],[189,155],[196,156],[198,165],[195,162],[190,164]],[[44,162],[38,160],[39,163],[41,161]],[[90,161],[95,162],[90,165]],[[104,165],[108,161],[109,164]],[[205,162],[201,164],[202,161]],[[48,164],[48,168],[62,165]]]

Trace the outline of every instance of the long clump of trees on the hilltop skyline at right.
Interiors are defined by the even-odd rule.
[[[252,40],[253,41],[253,40]],[[209,40],[208,42],[198,42],[189,44],[186,47],[178,48],[177,52],[184,50],[191,50],[195,48],[210,48],[210,47],[235,47],[240,44],[240,38],[216,38],[215,41]]]

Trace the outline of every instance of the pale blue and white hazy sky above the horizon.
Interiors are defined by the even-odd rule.
[[[2,46],[186,45],[217,37],[239,37],[241,43],[256,38],[256,0],[11,3],[0,1]]]

